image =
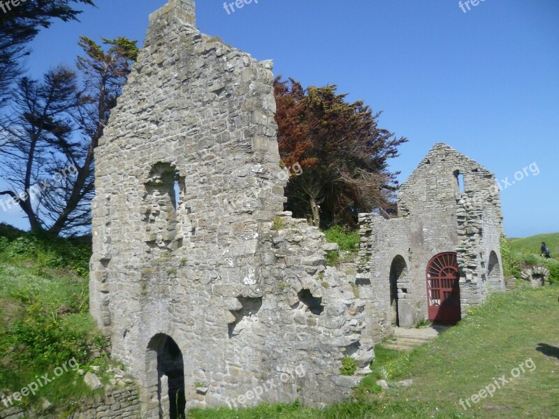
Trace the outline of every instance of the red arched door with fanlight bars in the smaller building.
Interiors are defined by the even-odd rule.
[[[456,253],[439,253],[426,270],[430,321],[454,324],[460,320],[460,273]]]

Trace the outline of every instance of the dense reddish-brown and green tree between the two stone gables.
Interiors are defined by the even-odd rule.
[[[380,112],[336,90],[275,80],[279,154],[286,166],[303,168],[289,180],[286,209],[324,228],[354,227],[358,212],[395,212],[398,172],[388,160],[407,141],[379,128]]]

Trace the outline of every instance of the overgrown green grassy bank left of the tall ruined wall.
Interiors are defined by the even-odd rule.
[[[0,391],[20,392],[77,362],[17,405],[41,406],[45,397],[66,417],[93,395],[75,371],[89,368],[89,350],[102,342],[89,316],[90,252],[88,244],[0,226]]]

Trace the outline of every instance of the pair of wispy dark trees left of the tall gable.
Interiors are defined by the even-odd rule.
[[[0,196],[20,205],[33,230],[59,235],[90,226],[94,149],[138,54],[136,41],[126,38],[103,38],[103,44],[106,51],[80,38],[82,83],[64,67],[41,82],[22,78],[11,103],[15,112],[0,118],[6,142],[0,168],[11,188]]]

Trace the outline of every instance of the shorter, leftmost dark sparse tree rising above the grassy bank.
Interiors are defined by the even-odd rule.
[[[71,113],[80,101],[78,84],[73,71],[55,68],[41,82],[22,78],[14,93],[14,112],[0,119],[6,138],[0,167],[12,189],[0,192],[0,196],[12,198],[3,201],[4,209],[10,201],[20,205],[31,229],[38,230],[44,226],[41,220],[47,216],[50,201],[64,189],[62,184],[50,184],[52,175],[70,164],[57,151],[79,148],[71,140]]]

